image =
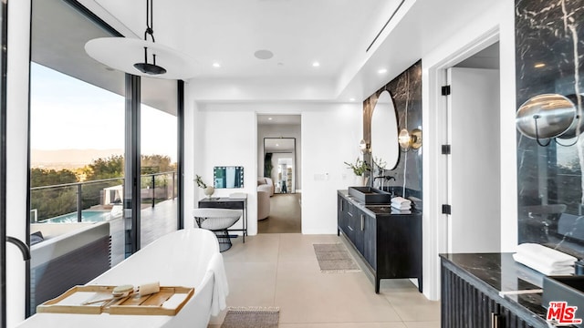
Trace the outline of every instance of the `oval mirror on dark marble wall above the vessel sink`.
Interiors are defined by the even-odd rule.
[[[395,169],[400,159],[398,121],[389,91],[381,92],[371,115],[371,156],[385,162],[385,169]]]

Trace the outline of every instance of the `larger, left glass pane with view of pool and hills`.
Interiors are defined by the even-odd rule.
[[[32,5],[31,314],[125,258],[126,101],[125,74],[84,50],[108,29],[63,0]]]

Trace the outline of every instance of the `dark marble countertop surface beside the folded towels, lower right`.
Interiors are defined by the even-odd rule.
[[[445,265],[450,265],[450,269],[454,266],[457,269],[454,272],[474,287],[494,300],[519,310],[524,316],[530,317],[529,320],[547,326],[546,309],[541,305],[544,276],[517,263],[513,260],[512,253],[459,253],[440,256]]]

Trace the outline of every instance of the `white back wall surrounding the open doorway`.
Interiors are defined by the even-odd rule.
[[[188,87],[187,93],[196,93]],[[195,122],[186,122],[196,130],[193,138],[194,166],[185,167],[185,176],[199,174],[205,181],[213,178],[217,165],[239,165],[245,169],[245,189],[248,194],[248,234],[257,233],[256,177],[257,130],[256,115],[275,112],[301,114],[304,139],[302,160],[302,232],[336,233],[337,190],[347,189],[352,176],[343,161],[359,155],[362,138],[361,104],[198,104],[193,110]],[[327,124],[322,124],[326,121]],[[187,173],[186,171],[193,172]],[[327,174],[328,173],[328,174]],[[187,181],[187,183],[192,183]],[[226,196],[235,190],[216,190]],[[203,193],[194,188],[194,201]],[[325,195],[325,196],[323,196]],[[185,208],[185,213],[190,211]]]

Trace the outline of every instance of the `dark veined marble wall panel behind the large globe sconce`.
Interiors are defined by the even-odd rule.
[[[581,113],[583,73],[584,0],[516,0],[516,108],[557,93],[572,97]],[[516,136],[519,243],[584,257],[584,137],[541,147]]]

